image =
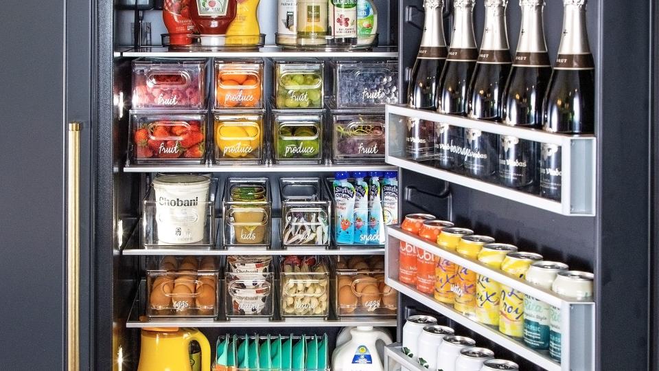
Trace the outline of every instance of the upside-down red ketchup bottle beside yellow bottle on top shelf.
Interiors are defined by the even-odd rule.
[[[224,35],[235,19],[237,0],[190,0],[190,16],[201,35]],[[201,38],[202,45],[218,45],[213,37]]]

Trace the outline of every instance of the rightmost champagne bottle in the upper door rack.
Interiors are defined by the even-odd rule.
[[[563,36],[542,104],[542,128],[552,133],[594,133],[594,61],[586,32],[586,0],[564,0]],[[542,144],[540,194],[561,198],[561,148]]]

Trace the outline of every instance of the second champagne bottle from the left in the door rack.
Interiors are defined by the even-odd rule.
[[[465,115],[467,89],[476,67],[478,49],[474,38],[474,0],[453,3],[454,22],[451,45],[437,86],[437,111],[451,115]],[[460,170],[466,159],[465,130],[439,123],[435,126],[436,166]]]

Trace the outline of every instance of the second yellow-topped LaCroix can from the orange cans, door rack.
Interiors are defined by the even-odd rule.
[[[476,259],[484,245],[494,243],[489,236],[464,236],[455,249],[455,252],[465,258]],[[456,266],[455,289],[453,290],[455,302],[453,308],[465,317],[476,318],[476,272],[461,266]]]

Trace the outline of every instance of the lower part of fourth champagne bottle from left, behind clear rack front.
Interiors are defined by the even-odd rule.
[[[533,184],[537,170],[537,143],[502,135],[499,139],[499,182],[522,188]]]

